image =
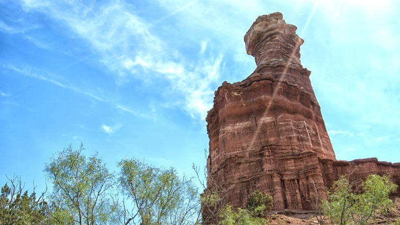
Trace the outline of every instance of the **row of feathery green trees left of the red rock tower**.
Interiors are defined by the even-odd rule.
[[[200,197],[191,179],[135,159],[118,165],[116,177],[97,154],[86,157],[82,144],[77,150],[69,145],[45,164],[52,193],[36,198],[35,191],[23,192],[20,178],[9,179],[11,187],[6,183],[0,196],[0,225],[200,223]]]

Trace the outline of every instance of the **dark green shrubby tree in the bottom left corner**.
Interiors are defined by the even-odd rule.
[[[6,183],[0,196],[0,225],[46,223],[49,208],[44,201],[45,192],[36,198],[35,188],[30,195],[23,192],[20,177],[7,179],[10,186]]]

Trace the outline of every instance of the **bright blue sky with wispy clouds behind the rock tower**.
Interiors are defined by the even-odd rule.
[[[400,162],[397,1],[0,0],[0,182],[44,187],[69,143],[176,167],[205,164],[205,117],[223,82],[256,65],[243,36],[282,12],[336,158]]]

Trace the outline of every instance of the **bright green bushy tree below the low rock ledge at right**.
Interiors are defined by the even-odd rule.
[[[370,219],[376,219],[376,212],[385,210],[393,205],[389,193],[397,185],[390,182],[386,176],[372,174],[361,184],[354,186],[348,179],[341,177],[334,186],[327,191],[328,199],[322,201],[322,211],[332,224],[345,225],[347,223],[368,224]]]

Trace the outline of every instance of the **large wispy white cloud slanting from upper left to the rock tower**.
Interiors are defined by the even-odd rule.
[[[108,2],[102,6],[77,4],[73,10],[66,2],[61,4],[62,8],[53,2],[32,2],[35,1],[26,2],[25,6],[51,14],[90,43],[93,51],[101,55],[99,60],[117,72],[117,84],[126,84],[132,78],[148,84],[154,79],[162,79],[168,82],[164,88],[177,93],[171,99],[174,104],[182,104],[178,107],[192,117],[203,120],[212,107],[222,54],[205,57],[206,42],[199,41],[201,56],[195,62],[186,61],[179,47],[171,46],[159,33],[151,30],[155,22],[174,16],[195,2],[184,4],[155,22],[139,17],[133,7],[124,2]],[[181,99],[177,101],[177,97]]]

